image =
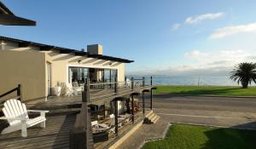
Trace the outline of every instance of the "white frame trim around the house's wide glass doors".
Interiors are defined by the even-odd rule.
[[[119,67],[113,67],[113,66],[94,66],[94,65],[83,65],[83,64],[67,64],[66,66],[66,73],[67,73],[67,78],[66,78],[66,83],[68,83],[68,67],[73,66],[73,67],[82,67],[82,68],[102,68],[102,69],[115,69],[117,70],[117,73],[119,75]]]

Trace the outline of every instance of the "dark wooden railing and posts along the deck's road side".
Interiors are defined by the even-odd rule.
[[[135,85],[136,82],[140,85]],[[99,86],[100,87],[96,87]],[[118,100],[122,100],[122,95],[119,95],[120,91],[129,90],[129,95],[131,95],[131,121],[134,123],[134,95],[139,95],[137,91],[133,92],[137,88],[145,88],[145,87],[152,87],[152,77],[150,77],[150,83],[146,85],[145,77],[143,78],[134,78],[131,77],[131,82],[114,82],[114,83],[90,83],[90,80],[87,79],[84,83],[84,90],[82,91],[82,106],[80,113],[77,115],[75,126],[73,130],[70,132],[70,148],[72,149],[85,149],[85,148],[92,148],[93,147],[93,140],[92,140],[92,130],[91,130],[91,122],[90,122],[90,112],[88,110],[88,102],[93,99],[91,95],[95,92],[96,89],[105,89],[108,86],[108,90],[112,89],[113,93],[109,93],[108,95],[115,95],[113,98],[114,102],[114,125],[110,128],[113,129],[114,127],[114,134],[118,136],[119,133],[119,123],[123,123],[123,121],[118,121]],[[146,90],[146,91],[145,91]],[[144,114],[144,92],[148,92],[149,89],[144,89],[143,93],[143,114]],[[150,88],[152,90],[152,88]],[[152,94],[152,91],[151,91]],[[104,95],[106,96],[106,95]],[[151,95],[151,104],[152,104],[152,95]],[[152,109],[152,105],[151,105]]]

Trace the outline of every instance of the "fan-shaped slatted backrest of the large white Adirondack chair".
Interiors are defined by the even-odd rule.
[[[28,118],[26,105],[21,103],[20,100],[7,100],[3,104],[3,114],[5,117],[26,117]],[[9,125],[13,125],[15,123],[19,123],[18,120],[8,120]]]

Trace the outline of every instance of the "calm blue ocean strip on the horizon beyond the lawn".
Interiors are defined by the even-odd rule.
[[[126,76],[131,78],[131,75]],[[142,78],[143,76],[132,76],[135,78]],[[145,76],[146,83],[149,83],[150,76]],[[230,80],[229,76],[165,76],[154,75],[153,83],[158,85],[200,85],[200,86],[237,86],[237,83]],[[252,83],[254,86],[255,83]]]

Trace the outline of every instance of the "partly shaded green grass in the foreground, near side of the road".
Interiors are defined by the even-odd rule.
[[[256,131],[174,124],[164,140],[147,142],[143,149],[255,149]]]

